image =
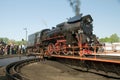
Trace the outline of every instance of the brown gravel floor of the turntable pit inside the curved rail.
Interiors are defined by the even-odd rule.
[[[55,61],[41,61],[24,66],[21,73],[29,80],[116,80],[76,71]]]

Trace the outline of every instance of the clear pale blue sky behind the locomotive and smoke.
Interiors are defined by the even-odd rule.
[[[120,37],[120,0],[81,0],[80,13],[93,18],[99,38]],[[68,0],[0,0],[0,37],[21,41],[28,35],[67,21],[75,13]]]

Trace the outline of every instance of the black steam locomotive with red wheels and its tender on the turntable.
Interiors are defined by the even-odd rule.
[[[91,15],[79,14],[52,29],[44,29],[28,36],[28,52],[44,55],[92,54],[99,50],[100,43],[93,34]]]

